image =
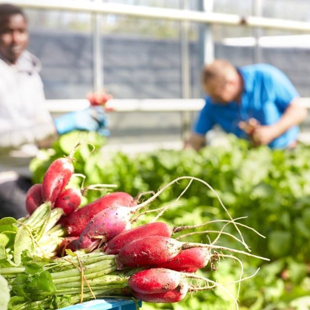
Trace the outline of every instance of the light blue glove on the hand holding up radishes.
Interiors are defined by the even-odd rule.
[[[58,134],[72,130],[97,131],[106,123],[102,107],[88,108],[81,111],[66,113],[54,120]]]

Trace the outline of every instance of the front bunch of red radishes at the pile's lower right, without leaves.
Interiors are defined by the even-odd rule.
[[[136,298],[172,303],[198,290],[186,279],[202,279],[189,273],[206,266],[211,258],[210,248],[179,242],[171,238],[174,231],[163,222],[149,223],[119,233],[104,247],[107,254],[116,255],[119,270],[145,268],[128,280]]]

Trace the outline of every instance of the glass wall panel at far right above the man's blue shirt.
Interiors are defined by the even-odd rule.
[[[310,21],[309,0],[264,0],[265,17]],[[310,34],[295,31],[263,30],[261,37],[263,62],[281,69],[303,97],[310,97]]]

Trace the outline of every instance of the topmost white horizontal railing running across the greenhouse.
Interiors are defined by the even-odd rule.
[[[239,16],[234,14],[81,0],[11,0],[10,2],[22,7],[48,10],[126,15],[142,18],[168,19],[175,21],[189,21],[231,26],[241,25],[251,28],[259,27],[264,29],[280,29],[286,31],[310,31],[310,22],[260,16]]]

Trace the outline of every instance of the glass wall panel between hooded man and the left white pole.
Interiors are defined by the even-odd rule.
[[[42,62],[47,99],[85,98],[93,85],[91,16],[26,10],[29,50]]]

